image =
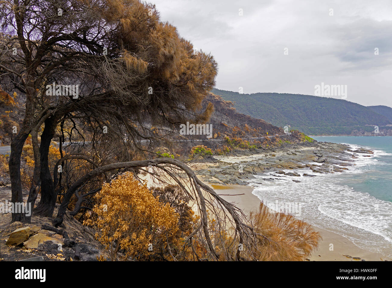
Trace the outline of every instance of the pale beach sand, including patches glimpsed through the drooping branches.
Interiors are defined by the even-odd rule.
[[[217,192],[217,194],[219,194],[225,200],[234,203],[238,208],[243,210],[245,214],[249,214],[250,211],[256,210],[261,203],[260,199],[256,195],[252,194],[254,188],[244,185],[245,183],[242,183],[242,185],[223,183],[222,178],[221,179],[217,178],[221,176],[220,174],[216,174],[216,176],[214,177],[214,176],[210,176],[210,172],[213,169],[221,169],[220,166],[222,165],[229,165],[223,167],[224,171],[227,171],[229,170],[230,167],[232,167],[231,165],[238,165],[240,163],[244,163],[244,165],[246,165],[245,167],[250,167],[249,165],[250,163],[247,163],[247,161],[260,161],[261,159],[264,159],[264,161],[273,161],[274,159],[279,157],[286,157],[283,158],[285,160],[284,162],[286,163],[289,162],[290,165],[292,165],[292,167],[290,168],[299,168],[299,167],[303,167],[302,163],[304,162],[306,163],[306,160],[312,159],[312,158],[308,159],[307,156],[307,153],[308,154],[312,153],[311,151],[312,151],[311,147],[303,147],[296,150],[298,155],[295,154],[294,156],[293,155],[288,156],[287,151],[276,151],[274,152],[273,155],[274,157],[272,158],[270,157],[269,154],[253,154],[253,155],[243,155],[243,156],[215,156],[216,159],[223,161],[223,164],[196,163],[197,168],[196,167],[193,168],[196,170],[196,174],[200,179],[202,179],[203,183],[213,188],[215,192]],[[305,153],[303,154],[303,156],[301,156],[299,152],[305,152]],[[295,159],[296,157],[297,159]],[[328,157],[332,157],[332,156],[328,155]],[[293,158],[295,159],[295,161],[293,161]],[[276,170],[273,164],[271,165],[271,168],[272,168],[271,170]],[[233,176],[229,176],[229,177],[233,177]],[[223,181],[224,179],[225,178],[223,178]],[[238,178],[236,177],[236,179]],[[145,176],[145,180],[147,180],[148,186],[152,185],[152,179],[149,175]],[[315,181],[317,180],[315,179]],[[194,202],[190,202],[189,205],[192,206],[192,209],[194,210],[195,213],[198,213],[197,206],[195,205]],[[331,232],[313,225],[312,228],[321,234],[322,240],[319,243],[318,249],[314,251],[313,254],[308,258],[309,261],[362,261],[362,260],[392,261],[390,257],[386,257],[379,253],[375,253],[363,248],[359,248],[348,238],[339,235],[335,232]],[[333,246],[333,250],[332,250],[332,246]],[[354,259],[354,257],[356,259]]]

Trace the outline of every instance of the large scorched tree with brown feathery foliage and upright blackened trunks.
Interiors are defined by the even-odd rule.
[[[72,141],[72,132],[82,134],[79,124],[89,131],[88,141],[109,130],[140,148],[140,139],[154,138],[147,121],[174,125],[206,116],[194,111],[214,86],[217,64],[161,22],[154,5],[4,1],[0,21],[2,88],[25,98],[24,122],[11,143],[12,201],[22,200],[20,153],[31,134],[36,165],[29,201],[34,205],[41,191],[38,214],[53,213],[56,192],[47,154],[54,136]],[[68,135],[67,123],[75,128]]]

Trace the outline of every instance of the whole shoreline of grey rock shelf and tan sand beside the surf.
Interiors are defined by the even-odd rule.
[[[238,156],[214,156],[218,160],[217,163],[203,163],[207,167],[198,171],[197,174],[205,184],[219,191],[219,194],[244,194],[221,197],[234,202],[238,208],[248,214],[251,210],[256,210],[261,203],[260,199],[252,193],[256,187],[250,186],[247,181],[254,179],[254,175],[265,177],[260,179],[263,182],[276,181],[285,174],[282,170],[292,170],[289,173],[294,172],[295,174],[295,170],[298,168],[309,168],[311,175],[307,174],[306,176],[312,177],[319,175],[319,173],[343,172],[351,170],[351,166],[356,165],[358,154],[370,157],[370,154],[374,154],[374,152],[362,148],[354,150],[353,147],[345,144],[328,142],[288,145],[278,148],[276,151],[258,151],[252,155],[241,155],[240,152]],[[331,165],[333,168],[328,171],[328,167],[331,169]],[[293,178],[301,179],[300,177]],[[307,259],[309,261],[361,261],[362,259],[364,259],[363,261],[392,261],[390,257],[378,252],[358,247],[343,235],[318,226],[311,226],[321,234],[323,239],[320,241],[318,249],[314,251],[310,259]],[[333,244],[333,250],[330,250],[330,247],[332,248],[330,244]]]

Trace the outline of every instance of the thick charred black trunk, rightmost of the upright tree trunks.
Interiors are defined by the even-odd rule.
[[[56,205],[56,193],[54,192],[53,178],[49,169],[49,147],[54,136],[56,121],[54,118],[45,120],[45,128],[41,135],[40,145],[40,181],[41,201],[34,209],[35,215],[52,217]]]

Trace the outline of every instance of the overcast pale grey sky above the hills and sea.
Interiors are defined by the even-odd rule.
[[[392,107],[391,0],[149,2],[214,56],[218,89],[314,95],[323,82],[347,85],[348,101]]]

